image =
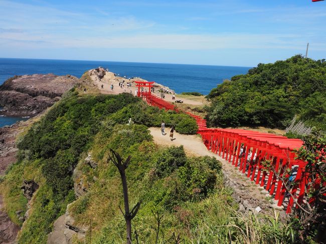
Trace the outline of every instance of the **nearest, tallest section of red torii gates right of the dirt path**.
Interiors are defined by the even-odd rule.
[[[273,170],[265,169],[263,160],[270,160],[271,165],[278,175],[285,175],[292,169],[293,165],[298,166],[296,177],[291,185],[291,193],[302,202],[304,195],[305,178],[302,172],[305,162],[296,160],[292,152],[302,146],[299,139],[288,139],[284,136],[277,136],[270,133],[248,131],[242,129],[206,129],[199,131],[202,135],[207,149],[219,154],[238,167],[251,181],[263,186],[281,206],[284,202],[286,189],[282,180]],[[243,145],[243,152],[240,153]],[[251,151],[251,157],[248,157]],[[286,175],[287,174],[287,175]],[[293,199],[289,198],[286,212],[291,211]]]

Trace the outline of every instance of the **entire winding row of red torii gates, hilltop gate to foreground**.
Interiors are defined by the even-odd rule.
[[[174,104],[151,94],[150,88],[154,82],[135,83],[137,96],[148,105],[181,112]],[[148,88],[148,91],[142,92],[141,87]],[[304,201],[305,190],[309,185],[309,177],[304,174],[306,162],[296,159],[293,152],[303,145],[302,140],[251,130],[207,128],[205,119],[186,113],[195,118],[198,134],[202,136],[208,150],[232,163],[251,181],[264,187],[278,206],[285,207],[287,213]],[[268,167],[265,162],[269,162]]]

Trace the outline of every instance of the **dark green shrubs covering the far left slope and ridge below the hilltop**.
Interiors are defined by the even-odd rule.
[[[127,125],[128,118],[134,121],[130,126]],[[197,131],[196,122],[190,116],[150,108],[130,94],[79,96],[74,90],[66,94],[18,142],[18,162],[9,170],[0,187],[6,196],[9,215],[22,224],[15,214],[17,210],[26,210],[27,201],[20,186],[24,180],[34,180],[40,185],[33,213],[24,224],[20,242],[46,242],[53,221],[75,199],[73,170],[99,130],[104,129],[109,135],[114,127],[118,133],[108,146],[125,150],[133,143],[151,140],[145,125],[160,126],[160,120],[175,125],[181,133]]]

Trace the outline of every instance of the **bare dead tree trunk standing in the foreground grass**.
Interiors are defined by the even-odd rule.
[[[126,221],[126,238],[127,238],[127,244],[132,243],[132,238],[131,238],[131,219],[136,216],[139,207],[140,207],[140,202],[137,202],[137,204],[132,208],[132,210],[129,210],[129,199],[128,199],[128,186],[127,186],[127,179],[126,179],[126,174],[125,170],[129,165],[130,162],[130,156],[123,162],[123,159],[121,158],[120,154],[115,152],[114,150],[110,149],[112,156],[109,155],[107,162],[112,161],[113,164],[118,168],[120,176],[121,176],[121,181],[122,181],[122,189],[123,189],[123,200],[124,200],[124,213],[122,209],[120,208],[124,219]]]

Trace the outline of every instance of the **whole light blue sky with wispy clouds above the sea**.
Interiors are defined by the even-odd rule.
[[[326,58],[326,1],[0,0],[0,57],[256,66]]]

